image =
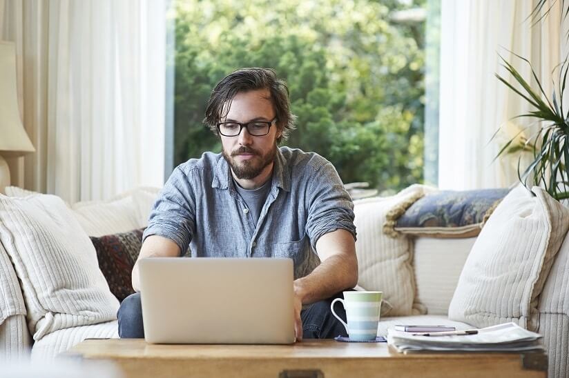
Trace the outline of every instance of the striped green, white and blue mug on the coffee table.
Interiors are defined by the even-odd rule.
[[[345,291],[344,299],[336,298],[330,309],[332,314],[342,322],[348,332],[349,339],[354,341],[375,340],[381,308],[381,291]],[[347,324],[334,312],[336,301],[342,302],[346,309]]]

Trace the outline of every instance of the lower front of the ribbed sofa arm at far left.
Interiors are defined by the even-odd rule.
[[[32,347],[31,339],[24,315],[4,319],[0,324],[0,357],[8,361],[27,357]]]

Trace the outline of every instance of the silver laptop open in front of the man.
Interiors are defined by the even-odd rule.
[[[291,259],[139,261],[144,337],[154,344],[291,344]]]

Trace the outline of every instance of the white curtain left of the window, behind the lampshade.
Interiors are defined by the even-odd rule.
[[[0,0],[37,150],[12,183],[71,202],[162,186],[165,23],[164,0]]]

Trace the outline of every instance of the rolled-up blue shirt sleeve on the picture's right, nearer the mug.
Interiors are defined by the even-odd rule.
[[[307,190],[308,221],[306,232],[316,250],[316,241],[328,232],[343,229],[356,239],[354,203],[345,190],[336,168],[327,162],[315,170]]]

